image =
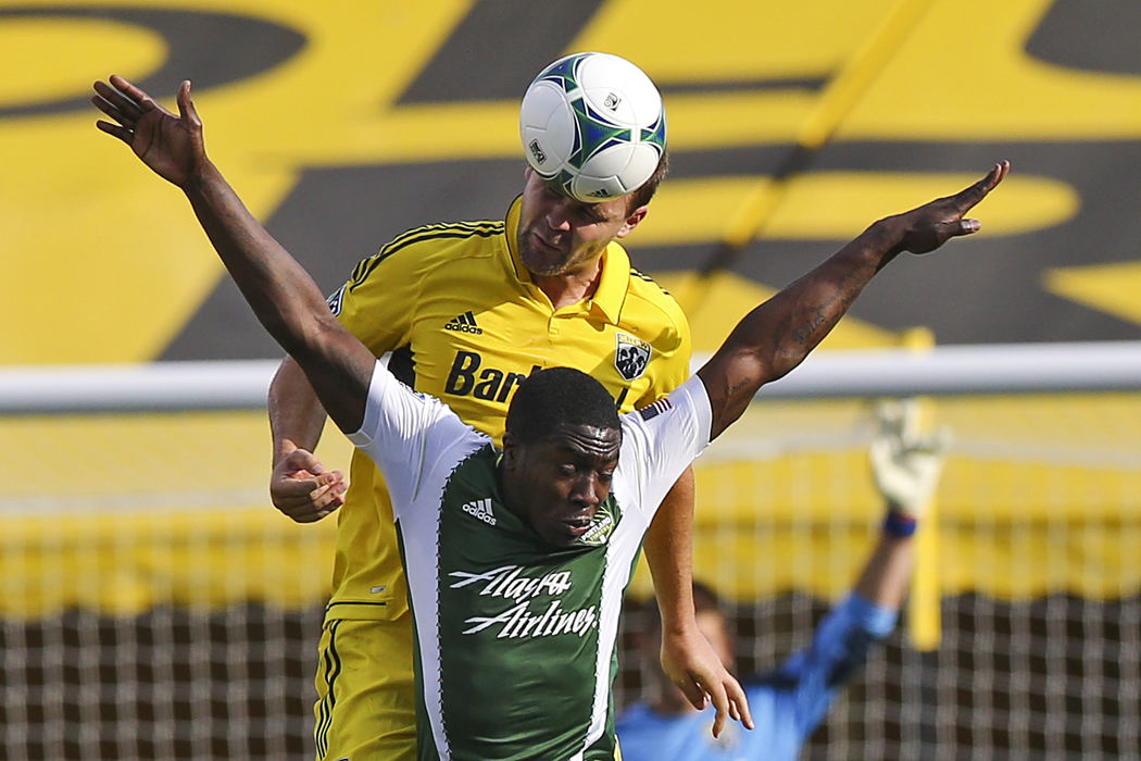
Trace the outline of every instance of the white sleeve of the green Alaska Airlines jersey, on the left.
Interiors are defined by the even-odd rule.
[[[348,438],[385,475],[397,517],[398,505],[412,503],[421,476],[440,456],[456,447],[472,448],[483,439],[446,404],[413,391],[379,361],[369,383],[364,421]]]

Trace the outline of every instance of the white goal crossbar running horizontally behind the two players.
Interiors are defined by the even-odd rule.
[[[260,408],[277,364],[266,359],[6,367],[0,370],[0,414]],[[1141,390],[1141,341],[1106,341],[817,353],[759,396],[1135,390]]]

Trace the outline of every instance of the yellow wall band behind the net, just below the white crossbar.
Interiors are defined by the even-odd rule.
[[[1001,599],[1141,589],[1141,396],[944,399],[939,588]],[[698,461],[694,565],[739,601],[849,585],[880,518],[858,402],[756,404]],[[0,615],[282,608],[329,591],[333,519],[269,503],[264,413],[0,421]],[[348,459],[331,431],[319,450]],[[747,459],[746,459],[747,458]],[[649,590],[640,569],[636,594]]]

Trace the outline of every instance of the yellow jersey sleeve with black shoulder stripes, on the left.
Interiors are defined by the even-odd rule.
[[[429,266],[412,233],[363,259],[331,297],[329,306],[341,324],[375,356],[408,343]]]

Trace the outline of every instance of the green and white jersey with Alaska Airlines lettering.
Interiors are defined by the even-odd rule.
[[[502,502],[499,452],[380,364],[350,438],[385,473],[416,638],[421,759],[613,759],[622,596],[654,511],[709,442],[690,379],[622,416],[610,496],[569,548]]]

